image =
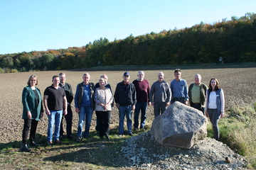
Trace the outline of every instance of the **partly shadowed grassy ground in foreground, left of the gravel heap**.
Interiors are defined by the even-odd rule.
[[[145,131],[134,131],[134,135],[142,132]],[[39,135],[41,146],[31,147],[29,153],[20,152],[21,142],[0,144],[0,169],[118,169],[124,162],[120,157],[122,143],[128,138],[129,135],[117,137],[117,128],[113,128],[110,140],[100,139],[92,130],[89,139],[80,143],[64,138],[62,145],[53,146],[46,144],[46,136]]]

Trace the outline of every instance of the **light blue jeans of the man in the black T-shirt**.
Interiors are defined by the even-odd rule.
[[[60,137],[60,121],[63,117],[63,111],[50,111],[48,115],[48,130],[47,130],[47,141],[53,141],[53,135],[55,140]],[[55,130],[53,134],[53,126],[55,124]]]

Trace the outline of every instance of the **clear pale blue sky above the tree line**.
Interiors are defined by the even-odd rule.
[[[255,0],[0,0],[0,54],[82,47],[256,13]]]

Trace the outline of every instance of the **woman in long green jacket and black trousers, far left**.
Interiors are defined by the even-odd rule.
[[[43,103],[41,92],[36,85],[38,84],[38,78],[35,75],[31,75],[28,79],[28,86],[24,87],[22,92],[22,104],[24,126],[22,131],[22,147],[21,151],[31,152],[31,149],[27,146],[28,131],[30,130],[30,146],[38,146],[34,142],[36,135],[36,127],[38,120],[43,117]]]

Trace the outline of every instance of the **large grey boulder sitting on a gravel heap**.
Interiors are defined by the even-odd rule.
[[[201,111],[176,101],[156,116],[150,134],[160,145],[190,149],[206,138],[206,125],[207,119]]]

